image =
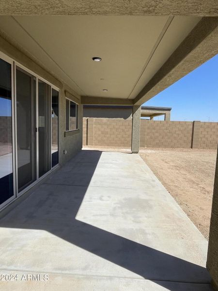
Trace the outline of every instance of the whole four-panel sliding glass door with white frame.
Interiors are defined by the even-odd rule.
[[[58,163],[58,88],[0,52],[0,208]]]

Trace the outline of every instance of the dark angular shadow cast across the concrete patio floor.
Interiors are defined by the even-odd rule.
[[[209,283],[206,269],[199,265],[76,219],[100,157],[100,151],[79,153],[1,219],[0,227],[47,230],[171,291],[175,289],[168,281]]]

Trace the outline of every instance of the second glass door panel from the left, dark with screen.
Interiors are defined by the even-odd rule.
[[[18,192],[36,180],[36,78],[16,67]]]

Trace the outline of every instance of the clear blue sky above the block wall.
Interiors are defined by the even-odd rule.
[[[218,55],[143,105],[172,107],[171,120],[218,122]]]

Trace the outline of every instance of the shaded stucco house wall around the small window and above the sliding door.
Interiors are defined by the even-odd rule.
[[[67,162],[82,148],[83,105],[78,105],[78,130],[65,132],[66,91],[69,92],[67,97],[78,104],[81,103],[81,97],[61,80],[54,77],[52,73],[33,61],[20,47],[10,44],[3,36],[0,36],[0,51],[60,89],[60,164]],[[2,132],[3,123],[0,122],[0,133]],[[63,150],[67,150],[67,154],[64,155]]]

